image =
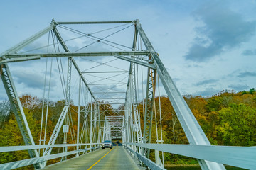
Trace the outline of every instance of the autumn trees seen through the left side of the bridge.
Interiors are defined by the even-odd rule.
[[[31,130],[31,134],[33,136],[33,140],[36,145],[39,144],[40,134],[41,134],[41,115],[43,108],[43,101],[37,97],[31,95],[23,95],[20,97],[21,104],[23,106],[23,111],[26,115],[26,120],[28,121],[29,128]],[[47,104],[48,103],[48,104]],[[107,103],[101,102],[100,110],[112,110],[112,106]],[[48,106],[47,106],[48,105]],[[45,101],[44,104],[44,114],[43,114],[43,127],[42,127],[42,136],[41,139],[44,139],[45,134],[45,125],[46,125],[46,110],[48,110],[48,118],[46,125],[46,145],[52,135],[52,132],[55,128],[56,123],[58,122],[58,118],[60,117],[60,113],[63,111],[65,106],[65,101]],[[92,108],[94,106],[92,105]],[[80,110],[82,111],[85,107],[82,106]],[[77,135],[77,127],[78,127],[78,106],[75,106],[71,101],[69,107],[66,120],[64,120],[64,124],[69,125],[69,132],[67,134],[67,143],[72,144],[75,143],[76,135]],[[84,113],[84,112],[83,112]],[[82,131],[82,123],[85,120],[85,117],[81,112],[80,116],[80,135],[83,133],[84,138],[82,142],[89,143],[90,137],[87,137],[90,133],[90,114],[87,118],[87,128]],[[101,119],[104,119],[104,116],[107,113],[102,112]],[[110,114],[108,114],[110,115]],[[93,119],[93,118],[92,118]],[[60,133],[55,141],[55,144],[63,144],[64,142],[64,134],[63,130],[60,130]],[[0,146],[18,146],[25,145],[23,142],[23,137],[21,136],[21,132],[18,128],[18,123],[16,122],[16,118],[14,113],[11,111],[11,106],[9,101],[2,101],[0,103]],[[43,142],[41,142],[43,145]],[[51,154],[56,154],[63,152],[64,148],[53,148]],[[68,147],[68,151],[76,149],[76,147]],[[41,149],[41,155],[43,151]],[[68,158],[74,157],[68,156]],[[28,152],[25,151],[17,151],[17,152],[0,152],[0,164],[6,162],[15,162],[22,159],[29,159]],[[53,164],[56,162],[60,162],[61,158],[52,159],[47,162],[47,164]],[[34,169],[33,166],[25,166],[21,169]]]

